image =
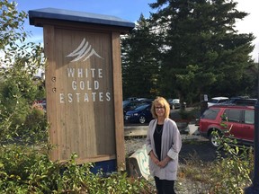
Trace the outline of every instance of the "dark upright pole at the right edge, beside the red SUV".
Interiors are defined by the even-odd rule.
[[[259,53],[257,63],[257,102],[255,104],[255,140],[254,140],[254,178],[250,187],[245,189],[245,194],[259,194]]]

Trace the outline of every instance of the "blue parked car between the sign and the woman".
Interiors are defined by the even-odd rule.
[[[135,110],[129,110],[125,114],[125,121],[129,121],[130,123],[146,123],[150,121],[152,118],[151,114],[151,104],[144,104],[136,108]]]

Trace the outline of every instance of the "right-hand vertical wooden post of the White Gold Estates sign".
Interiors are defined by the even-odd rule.
[[[118,171],[124,171],[126,161],[122,108],[121,39],[119,32],[112,32],[112,64],[117,169]]]

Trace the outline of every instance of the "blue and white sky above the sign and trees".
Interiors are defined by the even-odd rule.
[[[254,51],[251,53],[255,62],[259,59],[259,8],[258,0],[234,0],[237,2],[237,10],[249,13],[243,21],[236,23],[237,31],[240,33],[254,33],[256,39]],[[150,12],[154,12],[148,4],[156,0],[15,0],[18,3],[18,11],[28,13],[29,10],[41,8],[58,8],[86,13],[99,13],[120,17],[129,22],[137,22],[141,13],[147,18]],[[37,2],[37,3],[36,3]],[[29,19],[24,25],[25,31],[31,31],[32,42],[43,41],[43,29],[29,24]]]

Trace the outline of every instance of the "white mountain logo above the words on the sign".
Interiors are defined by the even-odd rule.
[[[96,53],[94,48],[92,48],[92,46],[89,45],[88,41],[85,42],[85,38],[84,38],[84,40],[82,40],[80,45],[73,52],[68,54],[67,57],[76,57],[70,61],[70,62],[76,62],[76,61],[80,60],[81,58],[84,58],[83,61],[85,61],[88,58],[92,57],[93,55],[96,57],[103,58]]]

